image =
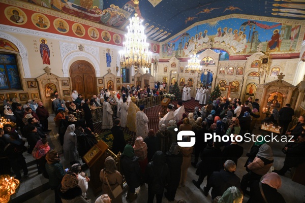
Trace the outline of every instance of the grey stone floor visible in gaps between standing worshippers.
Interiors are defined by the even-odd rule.
[[[61,147],[59,144],[59,140],[57,139],[57,129],[55,128],[55,124],[53,121],[54,115],[49,117],[49,129],[52,129],[52,131],[49,133],[48,139],[49,139],[49,145],[51,148],[60,151]],[[266,134],[266,132],[261,132],[258,129],[258,126],[256,126],[256,129],[254,130],[255,134]],[[246,153],[249,152],[251,146],[253,143],[245,143],[241,146],[244,148],[243,156],[238,160],[238,165],[236,168],[235,174],[241,179],[244,174],[246,174],[245,167],[243,165],[245,164],[247,157]],[[276,169],[279,169],[283,165],[284,161],[284,154],[281,151],[281,148],[285,145],[285,143],[270,143],[270,146],[273,150],[273,156],[275,159],[275,162],[273,163],[273,166]],[[29,169],[29,178],[21,182],[19,190],[17,191],[17,194],[12,196],[11,202],[25,202],[25,203],[33,203],[33,202],[44,202],[44,203],[51,203],[54,202],[54,191],[50,189],[44,189],[47,188],[48,179],[43,178],[42,175],[38,175],[37,173],[37,167],[36,164],[33,163],[34,158],[32,155],[24,153],[24,156],[26,157],[26,162]],[[65,163],[63,154],[60,155],[60,158],[62,159],[63,165],[68,165],[68,163]],[[32,163],[32,164],[31,164]],[[85,170],[85,173],[88,173],[88,176],[90,177],[89,170]],[[305,201],[305,186],[300,185],[298,183],[295,183],[290,178],[290,173],[286,173],[285,177],[282,178],[282,187],[279,189],[279,192],[284,196],[286,202],[304,202]],[[207,197],[205,197],[202,193],[203,186],[206,184],[206,179],[204,180],[203,184],[201,185],[200,190],[197,189],[193,183],[192,180],[198,179],[198,176],[195,175],[195,168],[193,166],[189,167],[188,170],[188,179],[186,182],[185,187],[178,188],[175,201],[179,199],[185,199],[187,202],[193,203],[193,202],[211,202],[211,196],[210,193]],[[40,192],[42,191],[42,192]],[[137,188],[136,192],[138,193],[138,198],[133,201],[135,203],[144,203],[147,202],[147,185],[143,185],[139,188]],[[125,199],[126,196],[126,189],[124,194],[122,195],[123,202],[129,202]],[[100,193],[101,195],[103,193]],[[93,194],[93,191],[89,188],[87,191],[87,197],[92,199],[94,202],[96,198],[99,196],[95,196]],[[25,200],[26,199],[26,200]],[[243,202],[247,202],[248,198],[244,197]],[[156,202],[156,199],[155,201]],[[164,196],[162,202],[169,202]]]

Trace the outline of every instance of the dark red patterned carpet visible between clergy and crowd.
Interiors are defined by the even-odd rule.
[[[171,104],[175,105],[174,109],[177,109],[177,101],[172,101]],[[185,106],[185,111],[187,114],[189,114],[190,112],[194,112],[195,107],[199,107],[199,109],[201,109],[202,107],[202,105],[199,105],[199,101],[195,101],[193,97],[191,98],[191,100],[185,101],[183,105]],[[144,113],[147,115],[149,120],[148,129],[153,129],[155,130],[155,132],[159,130],[159,112],[160,113],[162,112],[161,105],[144,110]],[[101,134],[108,131],[108,129],[102,130],[101,125],[102,125],[101,122],[94,124],[95,133]],[[132,136],[132,138],[128,141],[128,144],[134,145],[136,140],[136,133],[129,131],[127,127],[123,128],[123,131]]]

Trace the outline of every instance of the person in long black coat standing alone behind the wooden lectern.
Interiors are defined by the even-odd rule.
[[[114,154],[117,154],[118,152],[123,153],[124,148],[126,146],[126,142],[124,139],[124,132],[120,127],[120,119],[116,118],[113,121],[113,127],[111,128],[112,136],[113,136],[113,142],[112,142],[112,149],[111,151]]]

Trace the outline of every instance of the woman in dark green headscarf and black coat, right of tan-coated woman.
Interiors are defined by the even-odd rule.
[[[134,148],[131,145],[126,145],[124,152],[120,157],[120,161],[123,170],[122,172],[129,187],[126,199],[128,199],[130,202],[138,197],[138,195],[135,194],[135,191],[136,188],[140,186],[142,181],[142,173],[138,159],[139,157],[135,156]]]

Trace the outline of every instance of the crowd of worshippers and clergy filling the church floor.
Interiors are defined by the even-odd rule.
[[[173,86],[168,87],[172,93]],[[13,102],[5,100],[4,117],[17,123],[0,129],[1,135],[1,174],[14,174],[23,181],[28,178],[28,169],[23,153],[32,154],[36,159],[38,174],[49,179],[49,185],[54,190],[54,201],[57,202],[91,202],[86,196],[88,175],[81,172],[83,166],[80,157],[84,156],[97,141],[94,136],[95,126],[92,111],[103,107],[102,129],[109,129],[113,135],[111,151],[121,153],[118,171],[115,160],[109,156],[105,167],[100,172],[103,195],[95,202],[123,202],[122,193],[115,193],[118,186],[126,181],[129,202],[137,199],[136,188],[148,184],[147,202],[162,202],[165,195],[168,201],[175,200],[178,188],[185,187],[188,168],[196,168],[197,179],[193,184],[202,188],[202,195],[208,196],[212,202],[242,202],[243,196],[248,196],[248,202],[285,202],[282,194],[277,191],[281,187],[281,176],[302,164],[305,151],[305,132],[303,129],[305,117],[300,116],[292,129],[288,124],[294,115],[290,104],[272,112],[268,120],[260,119],[260,101],[249,97],[244,103],[239,98],[219,97],[210,100],[208,87],[196,89],[195,103],[198,106],[186,113],[185,104],[191,99],[190,89],[185,85],[181,90],[182,100],[176,105],[168,105],[167,113],[159,119],[159,130],[148,128],[149,119],[144,113],[144,105],[139,107],[136,101],[145,97],[164,94],[165,84],[159,81],[155,86],[145,89],[140,86],[121,88],[120,92],[110,93],[101,90],[92,98],[83,98],[77,90],[72,90],[71,101],[60,99],[54,92],[52,109],[54,122],[59,133],[60,145],[63,147],[63,157],[66,163],[60,162],[58,152],[48,145],[49,112],[39,101],[29,100],[21,105],[18,98]],[[200,104],[200,105],[199,105]],[[112,118],[111,105],[117,105],[117,117]],[[200,108],[199,108],[200,107]],[[84,112],[81,119],[76,119],[75,112]],[[266,140],[253,143],[247,153],[246,163],[238,161],[243,154],[243,141],[234,140],[206,141],[205,133],[216,133],[220,136],[233,134],[233,137],[252,133],[255,124],[260,121],[273,122],[282,128],[282,136],[292,136],[292,141],[283,145],[286,155],[284,166],[270,171],[273,161],[272,149]],[[134,145],[127,144],[123,129],[136,132]],[[177,133],[184,130],[195,132],[196,143],[192,147],[177,145]],[[184,136],[180,142],[190,142],[189,136]],[[28,146],[24,143],[27,141]],[[63,165],[64,164],[64,165]],[[240,180],[234,172],[236,165],[245,164],[245,172]],[[69,170],[64,170],[69,168]],[[12,170],[12,171],[11,171]],[[21,175],[23,172],[23,176]],[[206,184],[202,185],[206,178]],[[261,181],[260,181],[261,180]],[[233,197],[234,195],[234,201]],[[178,202],[186,202],[181,199]]]

